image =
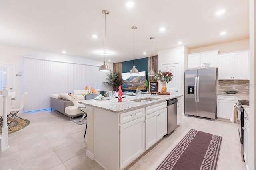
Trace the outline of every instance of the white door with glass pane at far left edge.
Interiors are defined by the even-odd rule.
[[[0,90],[7,86],[9,91],[14,90],[14,64],[0,63]]]

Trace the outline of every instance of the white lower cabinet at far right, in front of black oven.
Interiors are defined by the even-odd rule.
[[[246,119],[246,113],[244,114],[244,144],[243,144],[243,154],[244,154],[244,162],[246,165],[246,170],[249,170],[248,167],[248,138],[249,138],[249,120]]]

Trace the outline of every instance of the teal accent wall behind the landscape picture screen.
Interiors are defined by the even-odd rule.
[[[146,80],[148,80],[148,57],[135,60],[135,67],[138,71],[146,72]],[[122,73],[130,72],[133,67],[133,60],[122,62]],[[135,92],[135,90],[129,90],[130,92]]]

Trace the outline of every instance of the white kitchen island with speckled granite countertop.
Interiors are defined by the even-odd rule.
[[[167,132],[166,100],[182,95],[140,94],[153,101],[80,100],[87,109],[86,155],[108,170],[120,170],[162,139]]]

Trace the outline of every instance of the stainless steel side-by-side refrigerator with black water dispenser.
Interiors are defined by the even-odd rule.
[[[216,119],[216,68],[185,71],[185,115]]]

